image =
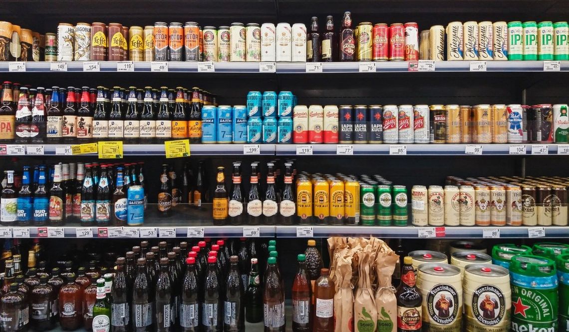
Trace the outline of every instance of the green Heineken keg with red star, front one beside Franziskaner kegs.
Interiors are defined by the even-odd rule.
[[[510,283],[512,331],[555,332],[558,323],[555,262],[540,256],[515,256],[510,262]]]

